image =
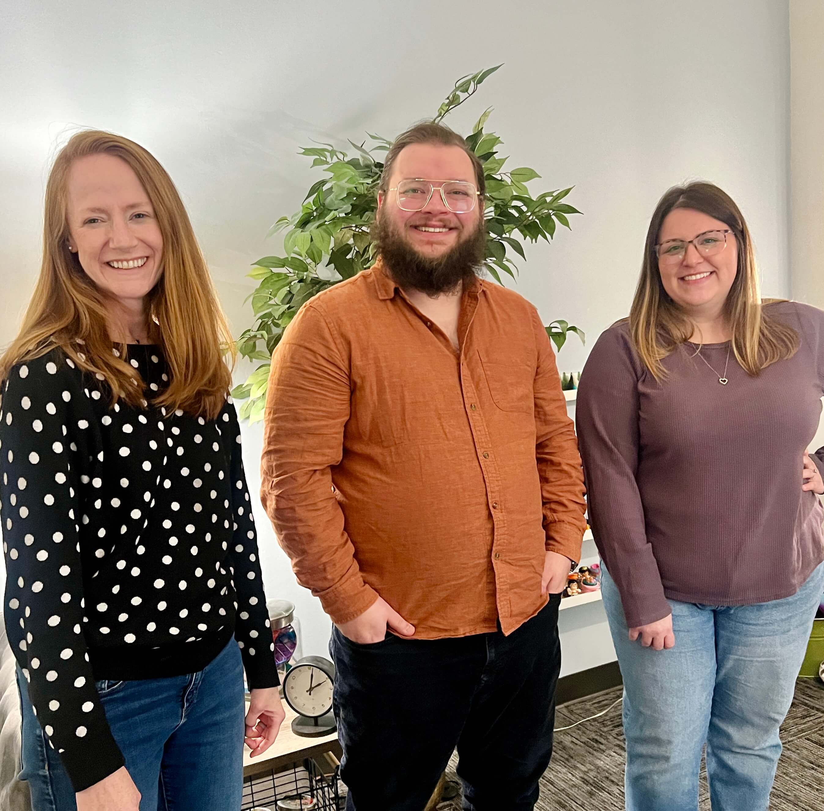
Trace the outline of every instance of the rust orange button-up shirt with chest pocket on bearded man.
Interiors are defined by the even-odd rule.
[[[275,350],[261,498],[338,623],[377,599],[419,639],[505,634],[578,560],[583,475],[541,319],[466,288],[460,352],[380,263],[312,298]]]

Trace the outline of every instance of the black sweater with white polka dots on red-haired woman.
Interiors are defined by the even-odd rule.
[[[160,349],[128,351],[162,390]],[[234,634],[250,687],[278,684],[240,442],[231,398],[212,421],[110,409],[59,349],[4,384],[7,634],[77,791],[124,764],[96,680],[194,673]]]

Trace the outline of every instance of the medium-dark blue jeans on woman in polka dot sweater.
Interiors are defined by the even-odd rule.
[[[243,792],[243,668],[235,640],[199,673],[96,682],[106,720],[142,795],[140,811],[238,811]],[[22,770],[36,811],[76,811],[59,754],[17,670]]]

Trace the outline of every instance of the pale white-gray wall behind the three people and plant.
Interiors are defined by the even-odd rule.
[[[786,2],[28,0],[0,8],[0,343],[37,272],[45,171],[69,128],[113,129],[159,157],[240,332],[244,273],[316,177],[297,149],[391,137],[456,77],[500,62],[452,124],[494,105],[512,166],[544,176],[535,190],[577,186],[585,215],[528,251],[517,286],[546,321],[569,319],[592,345],[624,316],[658,197],[699,177],[747,215],[765,292],[789,293]],[[562,368],[583,365],[576,340]],[[253,488],[259,451],[250,429]],[[269,593],[297,602],[306,648],[322,652],[328,622],[258,518]],[[565,672],[579,669],[565,647]]]

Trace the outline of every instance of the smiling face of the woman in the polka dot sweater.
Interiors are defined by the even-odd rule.
[[[70,250],[89,279],[129,310],[160,279],[163,237],[146,190],[128,163],[100,153],[68,175]]]

